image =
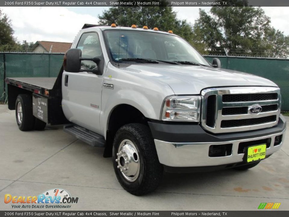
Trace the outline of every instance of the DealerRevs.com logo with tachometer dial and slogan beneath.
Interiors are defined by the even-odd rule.
[[[70,208],[72,203],[78,203],[78,197],[71,197],[64,189],[50,189],[38,196],[12,196],[5,194],[4,203],[12,203],[12,208]]]

